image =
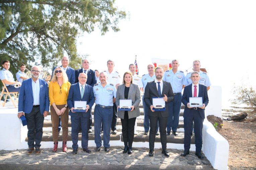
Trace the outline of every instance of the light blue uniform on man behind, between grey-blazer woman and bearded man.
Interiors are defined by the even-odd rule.
[[[139,82],[139,87],[143,87],[143,92],[145,92],[145,87],[148,82],[155,81],[156,75],[154,74],[152,77],[150,77],[149,74],[144,74]],[[144,110],[144,130],[145,132],[149,131],[150,123],[149,123],[149,116],[148,116],[148,109],[149,107],[146,105],[144,101],[144,96],[142,97],[142,104],[143,104],[143,110]],[[159,124],[157,123],[157,132],[159,129]]]

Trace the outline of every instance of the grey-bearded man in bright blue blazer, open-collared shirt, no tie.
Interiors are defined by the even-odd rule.
[[[48,84],[39,79],[40,73],[41,68],[33,66],[32,78],[23,81],[19,93],[18,118],[24,115],[27,119],[27,154],[41,153],[42,127],[50,106]]]

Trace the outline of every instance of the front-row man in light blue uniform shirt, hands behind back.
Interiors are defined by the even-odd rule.
[[[107,82],[106,72],[100,73],[100,83],[93,86],[93,93],[96,98],[94,108],[94,141],[96,151],[101,148],[101,124],[103,123],[103,146],[106,152],[109,151],[110,127],[113,116],[113,103],[116,97],[116,88]]]

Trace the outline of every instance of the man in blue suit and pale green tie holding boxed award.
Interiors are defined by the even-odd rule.
[[[94,103],[94,94],[91,86],[86,84],[87,75],[80,73],[78,77],[78,83],[72,84],[69,89],[68,95],[68,106],[70,108],[69,115],[71,116],[71,137],[72,137],[72,148],[73,154],[77,154],[78,149],[78,132],[82,129],[82,148],[83,151],[90,153],[88,149],[88,126],[90,118],[92,116],[91,108]],[[86,101],[85,112],[74,112],[75,101]]]

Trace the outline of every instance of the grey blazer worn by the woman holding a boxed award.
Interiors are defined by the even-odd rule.
[[[115,99],[116,106],[119,106],[120,99],[124,100],[124,87],[124,84],[117,87]],[[128,111],[129,119],[140,116],[140,108],[138,106],[141,102],[141,92],[137,84],[131,83],[127,99],[132,100],[132,105],[134,106],[134,110],[132,112]],[[117,117],[124,119],[124,111],[118,111]]]

